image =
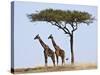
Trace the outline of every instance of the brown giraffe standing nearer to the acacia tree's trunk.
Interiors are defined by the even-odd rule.
[[[58,65],[58,62],[59,62],[59,59],[58,57],[60,56],[61,59],[62,59],[62,65],[64,64],[64,59],[65,59],[65,52],[64,50],[62,50],[54,41],[54,38],[52,36],[52,34],[48,37],[48,39],[51,39],[52,41],[52,44],[55,48],[55,54],[56,54],[56,60],[57,60],[57,65]]]

